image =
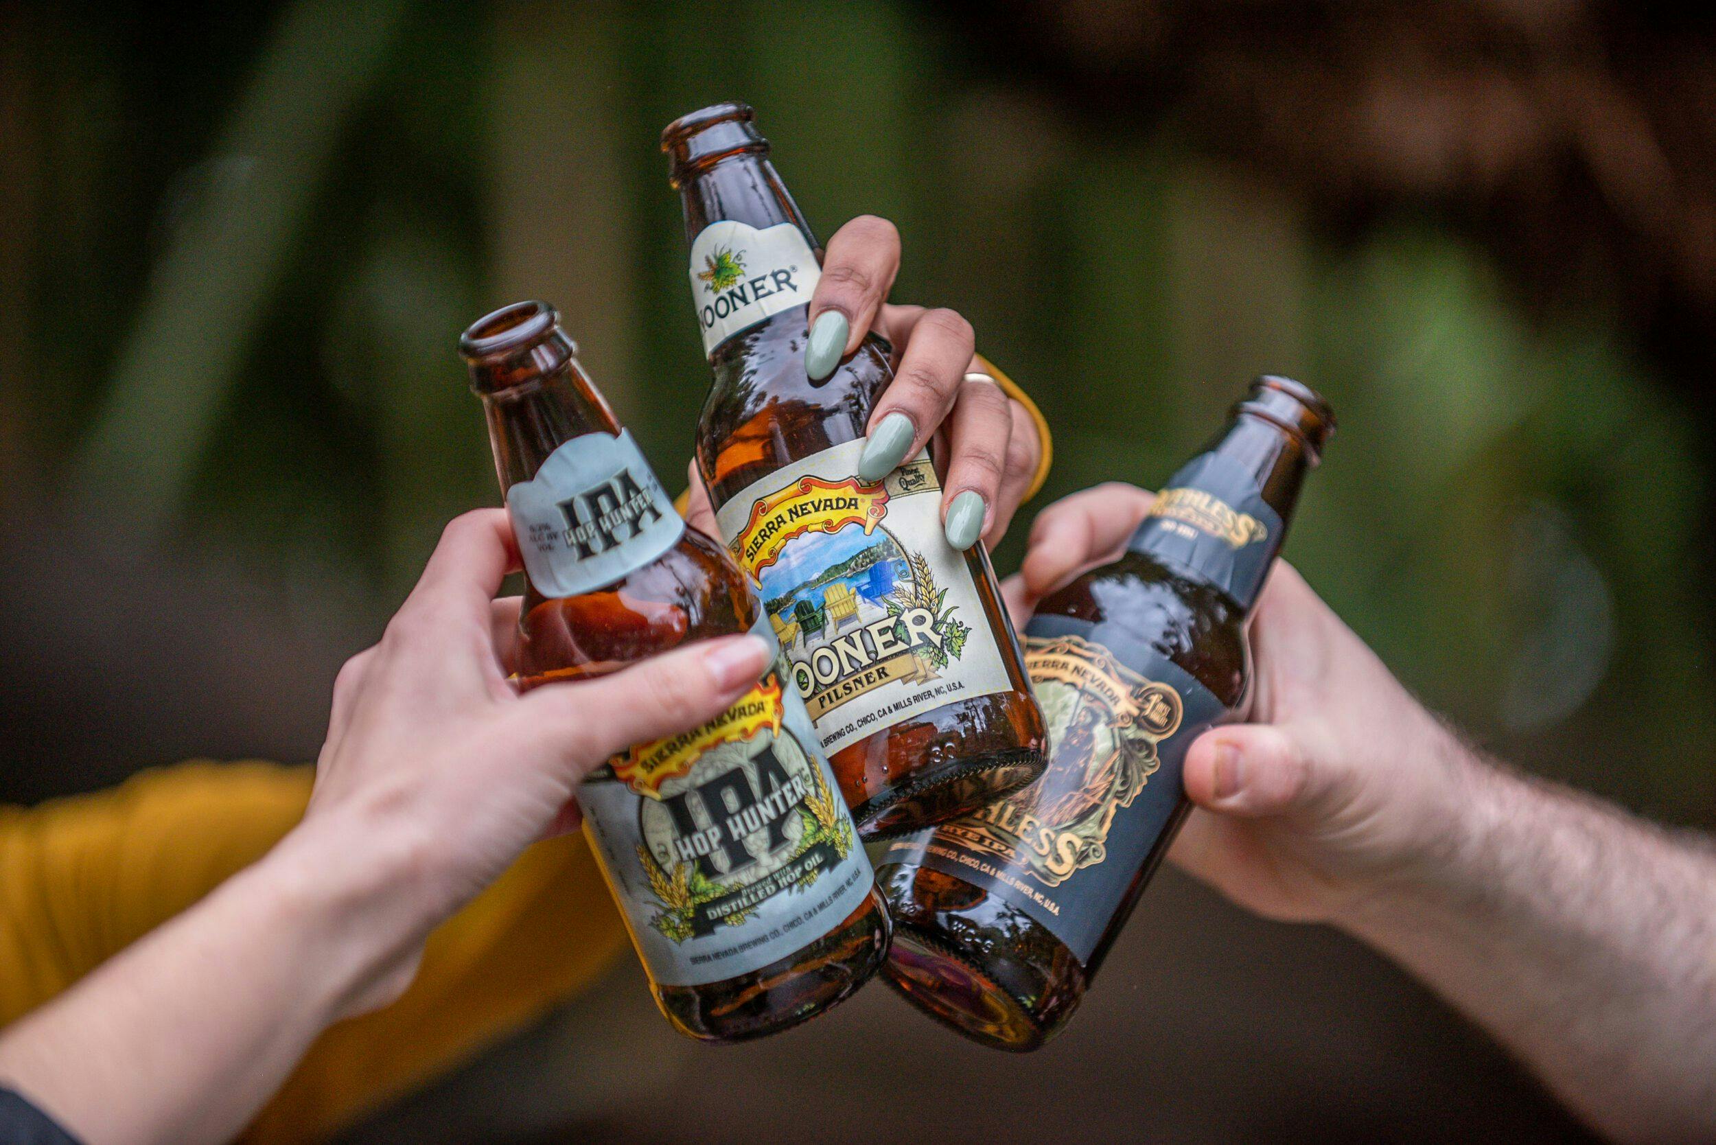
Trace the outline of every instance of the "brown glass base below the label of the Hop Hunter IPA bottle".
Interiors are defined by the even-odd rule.
[[[674,1030],[698,1042],[733,1044],[767,1037],[825,1015],[875,977],[887,958],[892,924],[880,891],[817,949],[710,985],[652,985]]]

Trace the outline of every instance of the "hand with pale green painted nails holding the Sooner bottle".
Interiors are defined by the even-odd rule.
[[[880,481],[946,431],[947,542],[994,544],[1036,476],[1036,422],[975,360],[971,323],[949,309],[887,306],[899,257],[899,232],[887,220],[860,215],[834,232],[810,299],[805,369],[812,379],[827,378],[872,330],[887,338],[894,381],[870,412],[858,476]]]

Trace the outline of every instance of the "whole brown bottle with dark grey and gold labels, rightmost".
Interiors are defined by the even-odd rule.
[[[1024,640],[1048,769],[896,839],[877,874],[885,973],[916,1006],[1014,1051],[1072,1015],[1189,810],[1186,748],[1248,700],[1246,621],[1333,427],[1309,388],[1260,378],[1126,554],[1038,604]]]

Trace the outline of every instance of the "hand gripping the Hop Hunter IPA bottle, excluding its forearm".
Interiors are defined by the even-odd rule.
[[[767,663],[765,644],[741,635],[520,695],[508,680],[518,603],[492,599],[515,568],[505,510],[453,520],[381,642],[335,683],[299,833],[335,848],[331,862],[395,881],[407,961],[529,843],[575,822],[565,809],[592,767],[714,718]]]

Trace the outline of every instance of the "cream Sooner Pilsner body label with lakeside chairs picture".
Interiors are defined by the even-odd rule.
[[[853,476],[861,451],[861,439],[848,441],[786,465],[716,513],[762,584],[793,683],[831,754],[1012,687],[966,558],[942,532],[928,455],[865,484]]]

